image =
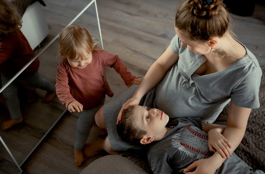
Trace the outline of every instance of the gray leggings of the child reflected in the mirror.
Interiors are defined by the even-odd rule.
[[[10,79],[10,77],[6,77],[5,75],[1,74],[2,86],[9,82]],[[56,90],[55,85],[53,85],[49,80],[41,78],[38,71],[24,79],[15,79],[2,92],[4,98],[6,99],[12,120],[19,120],[21,118],[20,103],[17,97],[19,83],[24,83],[30,87],[39,88],[47,92],[54,92]]]

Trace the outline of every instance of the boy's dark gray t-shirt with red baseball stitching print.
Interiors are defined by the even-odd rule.
[[[199,117],[175,118],[168,123],[167,127],[170,126],[175,127],[148,150],[148,161],[154,174],[183,173],[194,161],[213,155],[208,147],[208,134],[201,130]],[[215,174],[246,174],[251,170],[232,153]]]

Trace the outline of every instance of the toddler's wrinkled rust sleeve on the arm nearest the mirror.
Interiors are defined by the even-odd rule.
[[[56,94],[63,105],[68,106],[69,103],[75,101],[73,96],[70,94],[69,79],[66,72],[66,66],[63,61],[57,68],[56,76]]]

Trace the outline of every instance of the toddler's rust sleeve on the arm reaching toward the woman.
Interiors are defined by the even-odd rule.
[[[125,85],[130,84],[135,79],[135,76],[127,69],[127,66],[118,55],[111,54],[105,50],[102,50],[101,54],[104,66],[114,68],[120,74]]]

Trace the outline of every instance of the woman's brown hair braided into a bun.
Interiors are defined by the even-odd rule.
[[[229,13],[222,0],[186,0],[176,13],[175,27],[191,39],[222,37],[229,28]]]

